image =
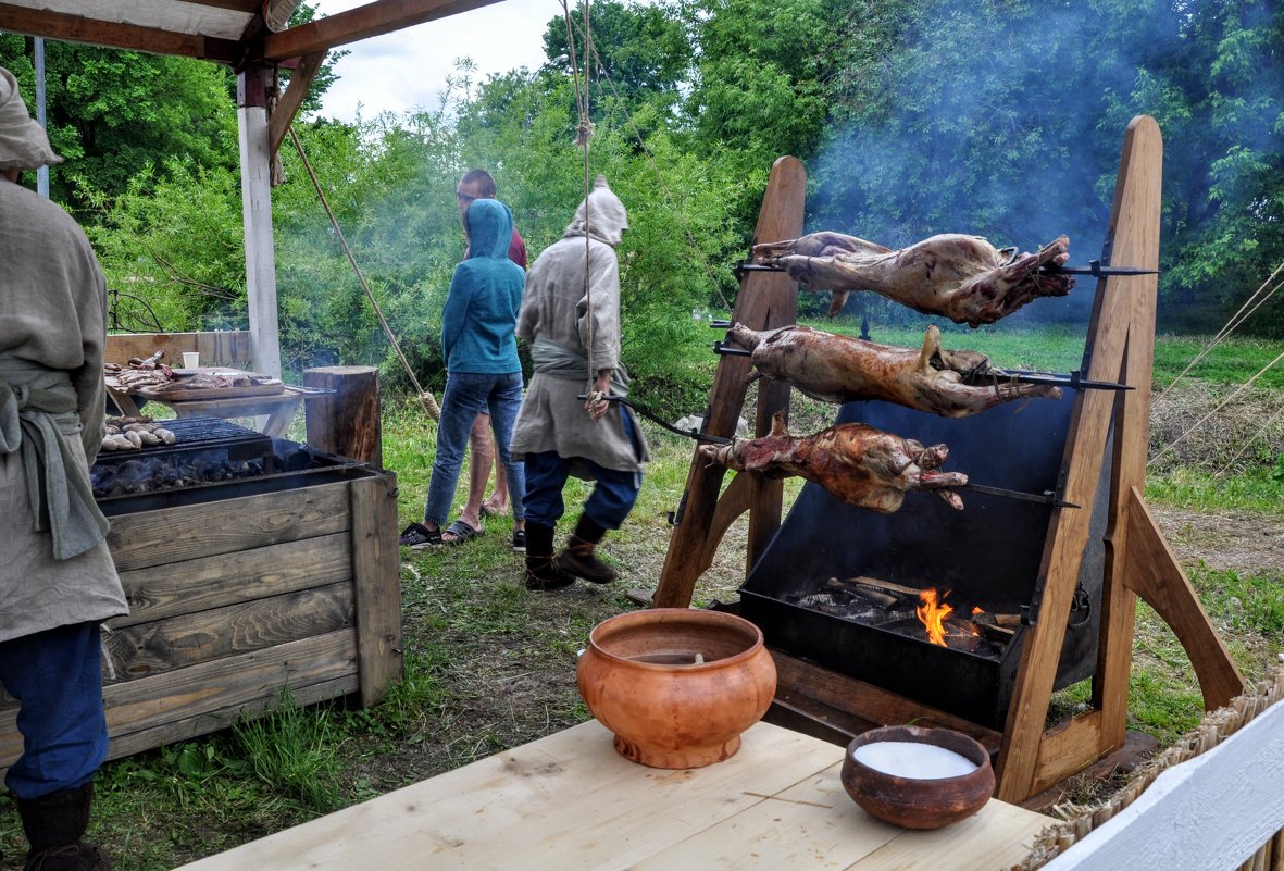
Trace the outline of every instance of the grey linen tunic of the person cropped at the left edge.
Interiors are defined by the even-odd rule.
[[[62,415],[69,425],[60,427],[63,434],[55,438],[63,439],[69,462],[86,468],[103,441],[105,325],[105,283],[85,234],[49,200],[0,180],[0,378],[6,379],[10,401],[28,393],[22,383],[31,375],[22,370],[48,370],[53,375],[42,375],[44,382],[69,380],[68,411]],[[8,436],[15,436],[13,428]],[[0,536],[0,641],[127,613],[100,533],[85,532],[96,540],[89,550],[54,559],[53,536],[48,524],[42,531],[35,528],[28,493],[22,451],[0,452],[0,518],[5,525]]]

